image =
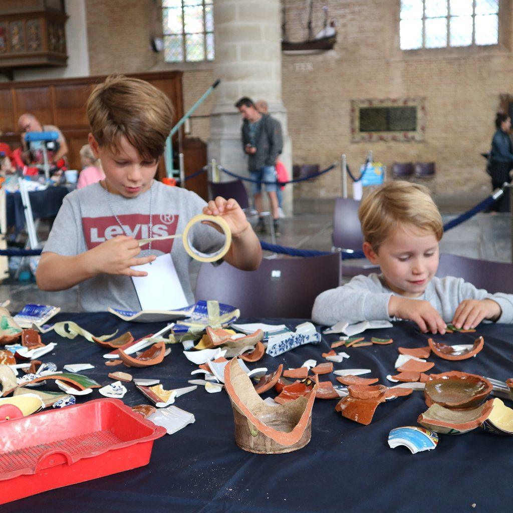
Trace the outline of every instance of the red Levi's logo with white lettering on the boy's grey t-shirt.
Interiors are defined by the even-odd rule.
[[[84,237],[87,249],[95,248],[117,235],[130,235],[134,239],[149,239],[150,237],[165,237],[174,235],[178,225],[178,215],[153,214],[151,216],[152,228],[149,233],[149,216],[147,214],[124,214],[117,216],[123,228],[117,223],[113,215],[101,218],[82,218]],[[169,253],[173,247],[174,239],[167,241],[153,241],[151,249]],[[148,249],[147,246],[143,247]]]

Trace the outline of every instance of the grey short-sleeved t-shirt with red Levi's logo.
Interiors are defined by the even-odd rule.
[[[150,196],[153,237],[183,233],[190,219],[202,213],[206,205],[194,192],[157,181],[153,181],[151,191],[148,189],[135,198],[109,193],[108,200],[107,191],[99,183],[91,184],[64,198],[43,252],[72,256],[92,249],[116,235],[130,234],[134,239],[149,238]],[[224,235],[210,226],[198,223],[191,232],[192,245],[204,253],[217,250],[224,243]],[[169,252],[187,302],[192,304],[194,297],[189,280],[191,257],[185,251],[181,238],[153,241],[151,253],[144,251],[140,256],[159,256]],[[80,306],[85,311],[105,311],[109,306],[141,310],[132,279],[128,276],[99,274],[80,283],[78,293]]]

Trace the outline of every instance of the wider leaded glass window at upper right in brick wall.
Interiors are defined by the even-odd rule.
[[[401,50],[499,43],[499,0],[401,0]]]

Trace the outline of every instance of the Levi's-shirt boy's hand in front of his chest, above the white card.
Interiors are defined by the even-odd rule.
[[[126,235],[119,235],[103,242],[87,252],[90,268],[95,274],[126,274],[127,276],[146,276],[144,271],[130,269],[135,265],[147,264],[155,260],[155,255],[135,258],[141,253],[139,243]]]

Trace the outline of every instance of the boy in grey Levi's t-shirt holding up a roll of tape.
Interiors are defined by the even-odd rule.
[[[148,273],[132,267],[170,253],[186,301],[193,304],[191,257],[183,244],[155,240],[141,251],[138,239],[183,233],[188,221],[202,212],[222,216],[230,228],[225,261],[243,270],[258,268],[260,242],[235,200],[218,197],[207,204],[194,192],[153,180],[173,122],[171,101],[162,91],[137,78],[110,76],[89,96],[87,117],[89,145],[101,160],[105,179],[64,199],[37,266],[42,290],[78,285],[85,311],[138,311],[131,277]],[[208,253],[225,238],[198,224],[191,242]]]

